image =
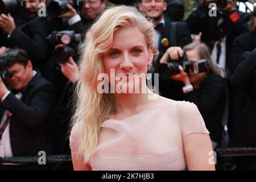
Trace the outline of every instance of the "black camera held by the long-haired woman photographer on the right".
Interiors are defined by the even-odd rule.
[[[159,76],[164,80],[170,79],[171,76],[177,75],[180,73],[179,65],[183,67],[184,72],[189,73],[191,70],[193,73],[198,74],[201,72],[207,71],[207,60],[195,60],[188,61],[187,55],[184,52],[183,56],[180,57],[178,61],[169,60],[168,63],[162,63],[159,66]]]

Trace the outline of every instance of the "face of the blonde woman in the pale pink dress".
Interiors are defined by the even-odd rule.
[[[122,84],[127,89],[131,87],[131,76],[147,74],[152,55],[153,48],[148,48],[146,39],[138,28],[122,28],[115,32],[113,45],[104,54],[104,70],[110,78],[110,84]],[[110,70],[114,71],[112,75],[115,76],[115,81],[111,79]],[[136,81],[138,80],[135,79]],[[143,81],[139,81],[139,86],[142,83]]]

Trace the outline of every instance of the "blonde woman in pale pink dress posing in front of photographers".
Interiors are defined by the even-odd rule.
[[[154,59],[154,25],[137,9],[118,6],[106,10],[90,34],[70,137],[74,169],[214,170],[209,132],[197,107],[149,89],[134,92],[146,79],[131,87],[130,78],[146,75]],[[122,85],[131,92],[100,93],[101,73],[112,88]]]

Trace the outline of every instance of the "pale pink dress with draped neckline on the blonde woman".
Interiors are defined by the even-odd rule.
[[[77,125],[70,137],[77,150]],[[169,101],[122,120],[101,125],[98,145],[89,160],[92,170],[185,170],[183,139],[191,133],[209,134],[197,106]]]

